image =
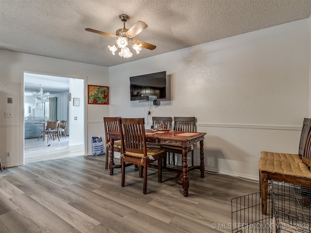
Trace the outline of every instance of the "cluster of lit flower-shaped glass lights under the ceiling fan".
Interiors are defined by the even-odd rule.
[[[129,43],[130,42],[130,43]],[[115,55],[115,52],[121,48],[121,51],[119,52],[120,57],[129,58],[133,56],[133,53],[131,50],[127,47],[127,45],[131,45],[134,50],[136,50],[136,54],[138,54],[141,50],[141,43],[138,44],[131,44],[131,41],[125,36],[119,36],[117,39],[117,43],[114,46],[109,46],[109,51],[112,52],[113,55]]]

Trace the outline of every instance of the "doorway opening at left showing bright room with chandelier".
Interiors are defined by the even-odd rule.
[[[85,155],[85,106],[73,106],[70,101],[73,96],[84,103],[84,82],[83,79],[24,72],[24,163]],[[48,99],[35,97],[40,87],[43,94],[50,94]],[[79,120],[71,120],[71,116]],[[43,123],[56,120],[66,121],[66,134],[59,133],[54,140],[48,140]]]

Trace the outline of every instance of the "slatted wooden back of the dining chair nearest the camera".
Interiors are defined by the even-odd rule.
[[[119,118],[122,145],[121,153],[147,154],[145,119]]]

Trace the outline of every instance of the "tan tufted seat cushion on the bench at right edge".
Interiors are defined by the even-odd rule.
[[[311,179],[311,172],[308,166],[301,161],[290,162],[260,158],[258,170]]]

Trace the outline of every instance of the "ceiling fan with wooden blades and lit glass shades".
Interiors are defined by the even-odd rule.
[[[119,52],[119,55],[121,57],[125,57],[125,58],[131,57],[133,54],[127,47],[128,44],[132,45],[133,49],[136,50],[137,54],[141,50],[141,47],[148,49],[148,50],[154,50],[156,48],[155,45],[134,39],[134,36],[136,36],[138,33],[142,32],[144,29],[148,27],[146,23],[142,21],[137,21],[130,29],[127,29],[125,28],[125,22],[128,20],[128,16],[121,14],[119,17],[121,21],[123,22],[123,28],[118,29],[115,35],[97,31],[91,28],[86,28],[85,30],[91,33],[98,33],[101,35],[118,38],[117,43],[115,45],[113,46],[108,45],[109,51],[111,51],[113,55],[115,55],[115,51],[121,48],[121,52]]]

